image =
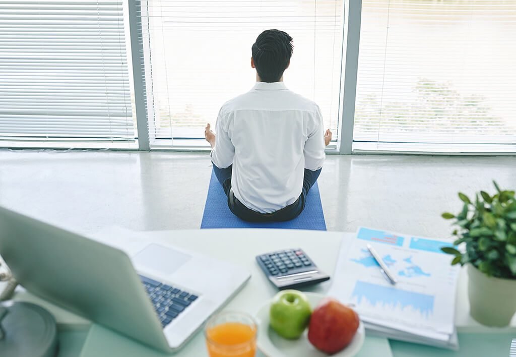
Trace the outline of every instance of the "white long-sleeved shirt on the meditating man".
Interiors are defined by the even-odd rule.
[[[304,169],[321,168],[324,150],[317,104],[283,82],[256,82],[220,108],[211,157],[219,168],[233,164],[231,184],[241,203],[271,213],[298,199]]]

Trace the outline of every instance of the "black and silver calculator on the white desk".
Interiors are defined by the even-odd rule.
[[[301,249],[257,255],[256,261],[271,283],[280,290],[297,289],[330,279]]]

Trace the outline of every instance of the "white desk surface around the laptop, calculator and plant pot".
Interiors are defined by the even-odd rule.
[[[122,232],[120,228],[113,227],[99,232],[94,238],[106,240],[106,237]],[[341,241],[346,244],[354,235],[343,232],[290,229],[198,229],[147,231],[139,232],[139,234],[144,235],[150,241],[174,244],[187,250],[231,261],[243,269],[249,270],[252,275],[251,279],[225,308],[246,311],[251,314],[254,314],[266,300],[273,297],[278,291],[268,282],[257,266],[256,255],[274,250],[301,247],[321,270],[333,275]],[[305,290],[325,293],[330,284],[331,280]],[[14,300],[31,301],[46,307],[56,316],[62,328],[84,328],[85,324],[89,324],[88,320],[42,301],[25,291],[15,293]],[[509,328],[490,329],[483,327],[470,317],[465,269],[460,272],[456,308],[456,325],[459,332],[516,332],[516,318],[512,320]],[[370,342],[371,345],[384,343],[381,339],[370,340]],[[181,350],[180,355],[196,357],[206,355],[202,333],[193,337]]]

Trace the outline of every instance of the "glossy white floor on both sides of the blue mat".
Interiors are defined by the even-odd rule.
[[[207,154],[0,150],[0,205],[80,232],[199,228]],[[516,188],[515,157],[328,156],[319,188],[328,230],[370,226],[447,237],[457,192]]]

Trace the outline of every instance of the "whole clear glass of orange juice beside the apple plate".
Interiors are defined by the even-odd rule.
[[[212,316],[204,329],[209,357],[254,357],[256,322],[245,313]]]

